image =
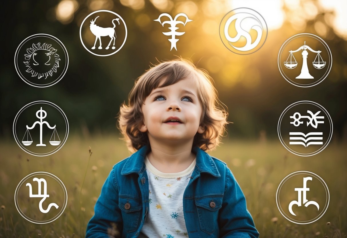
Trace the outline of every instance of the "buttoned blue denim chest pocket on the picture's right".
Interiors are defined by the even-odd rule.
[[[222,207],[222,194],[195,197],[200,229],[211,235],[218,228],[218,210]]]

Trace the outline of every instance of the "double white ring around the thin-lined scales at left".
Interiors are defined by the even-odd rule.
[[[31,106],[31,105],[34,105],[34,104],[38,104],[38,103],[49,104],[49,105],[51,105],[52,107],[56,108],[56,109],[62,114],[62,116],[64,117],[64,119],[65,119],[65,125],[66,125],[66,136],[65,136],[64,141],[61,143],[61,145],[60,145],[58,148],[54,149],[53,151],[50,151],[50,152],[47,152],[47,153],[44,153],[44,154],[34,153],[34,152],[29,151],[29,150],[27,150],[26,148],[24,148],[24,147],[18,142],[18,138],[17,138],[17,135],[16,135],[16,123],[17,123],[17,119],[18,119],[20,113],[22,113],[27,107],[29,107],[29,106]],[[67,120],[67,117],[66,117],[64,111],[61,110],[61,108],[59,108],[56,104],[54,104],[54,103],[52,103],[52,102],[49,102],[49,101],[34,101],[34,102],[31,102],[31,103],[26,104],[22,109],[20,109],[20,110],[18,111],[18,113],[17,113],[17,115],[16,115],[16,117],[15,117],[15,120],[14,120],[14,122],[13,122],[13,135],[14,135],[14,137],[15,137],[15,141],[16,141],[17,145],[18,145],[23,151],[25,151],[26,153],[31,154],[31,155],[34,155],[34,156],[40,156],[40,157],[42,157],[42,156],[48,156],[48,155],[51,155],[51,154],[56,153],[57,151],[59,151],[59,150],[61,149],[61,147],[64,146],[64,144],[65,144],[65,142],[66,142],[66,140],[67,140],[67,137],[68,137],[68,135],[69,135],[69,122],[68,122],[68,120]]]

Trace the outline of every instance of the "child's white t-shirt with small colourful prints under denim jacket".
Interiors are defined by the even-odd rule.
[[[149,180],[149,210],[140,238],[186,238],[188,237],[183,214],[183,194],[192,176],[196,158],[184,171],[163,173],[146,157],[145,165]]]

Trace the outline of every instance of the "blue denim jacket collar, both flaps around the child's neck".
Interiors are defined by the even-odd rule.
[[[210,173],[215,177],[220,177],[220,173],[212,160],[211,156],[198,147],[192,150],[196,154],[196,165],[194,171],[197,169],[198,173]],[[121,175],[128,175],[130,173],[142,173],[145,165],[144,160],[147,152],[147,146],[142,146],[138,151],[132,154],[121,171]]]

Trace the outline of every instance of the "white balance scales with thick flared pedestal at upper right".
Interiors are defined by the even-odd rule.
[[[308,67],[307,67],[307,56],[308,56],[307,50],[309,50],[313,53],[317,53],[316,58],[312,62],[314,68],[322,69],[322,68],[324,68],[324,66],[327,62],[323,61],[322,57],[320,56],[320,53],[322,51],[313,50],[310,46],[306,45],[306,41],[304,42],[304,45],[300,46],[297,50],[290,50],[289,51],[290,54],[287,58],[287,61],[284,62],[284,66],[286,66],[286,68],[288,68],[288,69],[294,69],[298,65],[298,62],[295,60],[293,53],[298,52],[300,50],[302,50],[301,54],[303,57],[303,65],[301,67],[301,74],[295,78],[312,79],[314,77],[310,75],[310,72],[308,71]]]

